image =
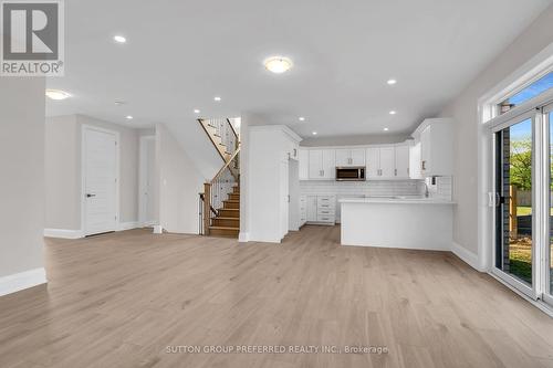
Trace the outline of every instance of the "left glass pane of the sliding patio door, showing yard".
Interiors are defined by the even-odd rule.
[[[532,119],[497,133],[495,266],[532,284]]]

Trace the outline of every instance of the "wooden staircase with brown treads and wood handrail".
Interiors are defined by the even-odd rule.
[[[200,193],[200,234],[238,238],[240,232],[240,141],[229,119],[198,119],[223,161]]]

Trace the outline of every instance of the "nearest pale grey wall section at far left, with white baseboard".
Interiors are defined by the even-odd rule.
[[[0,295],[45,282],[44,88],[43,78],[0,81]]]

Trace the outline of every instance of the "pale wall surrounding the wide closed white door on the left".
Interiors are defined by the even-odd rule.
[[[82,127],[91,125],[119,133],[119,223],[138,221],[139,136],[135,129],[84,115],[46,118],[45,228],[81,230]]]

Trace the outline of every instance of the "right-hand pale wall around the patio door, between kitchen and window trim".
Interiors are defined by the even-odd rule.
[[[478,248],[478,99],[553,42],[553,6],[549,7],[440,114],[453,117],[453,241],[474,256]],[[491,244],[490,244],[491,246]],[[482,256],[482,254],[480,254]]]

